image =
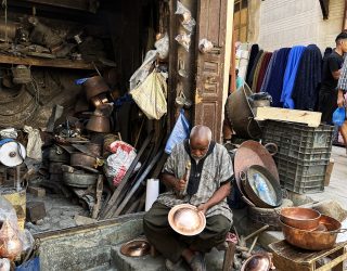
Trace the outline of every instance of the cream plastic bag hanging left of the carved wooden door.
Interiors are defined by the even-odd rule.
[[[149,119],[159,119],[166,114],[167,85],[160,73],[154,70],[130,94]]]

